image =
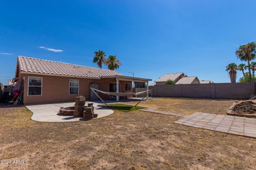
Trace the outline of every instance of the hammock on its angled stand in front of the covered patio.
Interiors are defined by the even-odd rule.
[[[148,95],[149,95],[149,93],[151,92],[151,90],[152,89],[150,89],[150,90],[146,90],[146,91],[141,91],[141,92],[108,92],[108,91],[101,91],[101,90],[97,90],[97,89],[94,89],[94,88],[91,88],[90,87],[90,89],[94,92],[94,94],[97,96],[97,97],[99,97],[100,98],[100,100],[107,106],[107,107],[109,107],[108,105],[107,105],[107,103],[97,94],[97,92],[95,92],[95,91],[99,91],[99,92],[101,92],[102,94],[106,94],[106,95],[112,95],[112,96],[128,96],[128,95],[135,95],[135,96],[137,96],[137,95],[140,95],[140,94],[143,94],[143,93],[145,93],[145,92],[147,92],[147,95],[146,96],[144,96],[135,106],[133,106],[133,107],[136,107],[143,99],[145,99],[145,97],[147,97]],[[94,91],[95,90],[95,91]]]

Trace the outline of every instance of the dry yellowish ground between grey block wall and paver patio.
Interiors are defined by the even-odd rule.
[[[127,102],[126,104],[136,104],[138,101]],[[171,113],[193,114],[195,112],[205,112],[226,115],[227,109],[234,103],[232,100],[201,100],[201,99],[173,99],[155,98],[141,101],[139,106],[161,107],[159,111]]]

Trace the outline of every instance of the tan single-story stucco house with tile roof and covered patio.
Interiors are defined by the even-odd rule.
[[[23,80],[23,103],[41,104],[74,101],[76,96],[98,100],[90,87],[101,91],[132,92],[132,81],[151,79],[127,77],[113,70],[18,56],[15,80]],[[100,94],[103,99],[113,96]],[[131,97],[131,96],[130,96]],[[119,101],[119,97],[116,97]]]

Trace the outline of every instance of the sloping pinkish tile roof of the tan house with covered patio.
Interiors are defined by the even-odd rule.
[[[18,56],[18,71],[58,74],[75,77],[101,78],[111,75],[122,75],[113,70],[54,62],[38,58]]]

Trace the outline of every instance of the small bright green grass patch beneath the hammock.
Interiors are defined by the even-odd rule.
[[[121,111],[121,112],[132,112],[132,111],[137,111],[139,109],[142,109],[144,107],[140,107],[140,106],[132,106],[132,105],[125,105],[125,104],[119,104],[119,103],[116,103],[116,104],[108,104],[108,106],[106,105],[99,105],[101,107],[107,107],[107,108],[110,108],[110,109],[113,109],[113,110],[117,110],[117,111]]]

